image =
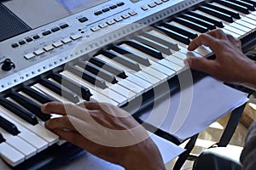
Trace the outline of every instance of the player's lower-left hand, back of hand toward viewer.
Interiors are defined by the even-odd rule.
[[[42,105],[46,114],[61,115],[45,127],[61,139],[125,169],[164,169],[162,158],[146,130],[116,106],[85,102],[79,105],[51,102]]]

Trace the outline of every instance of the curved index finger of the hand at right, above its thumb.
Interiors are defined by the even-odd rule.
[[[216,44],[218,39],[208,35],[207,33],[201,34],[199,37],[196,37],[192,42],[189,43],[188,49],[190,51],[195,50],[196,48],[200,47],[201,45],[205,45],[212,49],[213,52],[218,50],[218,46]]]

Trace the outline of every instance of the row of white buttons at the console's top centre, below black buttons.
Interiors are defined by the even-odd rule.
[[[134,16],[136,14],[137,14],[136,11],[131,11],[128,14],[122,14],[121,16],[119,16],[119,17],[117,17],[117,18],[115,18],[113,20],[108,20],[106,23],[102,23],[102,24],[100,24],[98,26],[93,26],[93,27],[90,28],[90,30],[91,31],[99,31],[102,28],[105,28],[107,26],[111,26],[111,25],[115,24],[116,22],[119,22],[119,21],[124,20],[124,19],[128,19],[131,16]]]

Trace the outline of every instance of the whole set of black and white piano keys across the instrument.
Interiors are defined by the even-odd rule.
[[[184,59],[211,56],[207,47],[187,50],[201,33],[219,28],[241,39],[255,32],[255,7],[253,0],[203,3],[5,91],[0,97],[1,157],[15,167],[58,143],[58,136],[44,128],[54,115],[44,115],[40,105],[85,100],[125,107],[187,70]]]

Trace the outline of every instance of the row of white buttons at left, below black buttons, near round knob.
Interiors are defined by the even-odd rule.
[[[31,54],[26,54],[26,55],[24,55],[24,58],[25,59],[32,59],[32,58],[34,58],[34,57],[36,57],[38,55],[44,54],[45,52],[51,51],[54,48],[59,48],[63,44],[67,44],[67,43],[72,42],[74,40],[78,40],[81,37],[82,37],[81,35],[77,34],[77,35],[73,35],[71,37],[64,38],[64,39],[62,39],[59,42],[54,42],[53,44],[51,44],[49,46],[45,46],[43,49],[38,49],[38,50],[34,51]]]

